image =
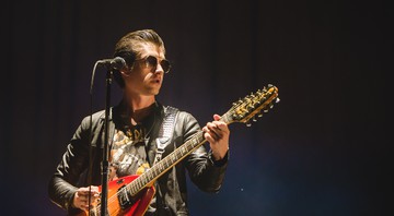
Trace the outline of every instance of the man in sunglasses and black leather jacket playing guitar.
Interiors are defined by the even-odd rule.
[[[108,181],[143,173],[155,160],[165,158],[200,131],[190,113],[155,100],[164,74],[170,71],[170,62],[165,60],[164,43],[154,31],[142,29],[125,35],[116,44],[114,56],[124,58],[127,67],[114,71],[114,79],[124,95],[121,101],[111,109],[108,118],[112,140]],[[104,118],[104,111],[93,115],[92,134],[90,118],[82,120],[49,181],[50,200],[70,215],[81,211],[86,213],[89,201],[92,208],[101,197]],[[220,190],[228,165],[230,131],[219,120],[220,117],[215,115],[213,121],[202,128],[209,151],[205,145],[190,151],[154,181],[155,193],[144,208],[146,215],[188,215],[186,172],[202,191]],[[169,125],[171,130],[167,130]],[[163,131],[167,139],[160,145]],[[91,149],[92,154],[89,154]],[[125,200],[132,199],[128,194]]]

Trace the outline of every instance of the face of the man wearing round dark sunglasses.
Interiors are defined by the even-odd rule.
[[[164,71],[160,63],[157,63],[157,67],[151,67],[151,64],[147,63],[148,57],[155,57],[159,62],[165,59],[161,48],[153,44],[143,44],[141,56],[137,57],[134,67],[121,72],[125,80],[126,94],[141,96],[154,96],[159,94]]]

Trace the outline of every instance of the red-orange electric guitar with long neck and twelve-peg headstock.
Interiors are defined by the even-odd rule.
[[[262,111],[268,112],[274,107],[274,103],[279,103],[278,88],[268,85],[256,93],[247,95],[243,99],[233,103],[233,106],[220,119],[228,124],[233,122],[242,122],[250,125],[250,120],[255,121],[255,116],[262,117]],[[147,211],[155,189],[153,187],[155,180],[184,159],[187,155],[198,148],[206,142],[204,132],[198,131],[190,140],[170,153],[162,160],[159,160],[150,169],[142,175],[132,175],[119,178],[108,182],[107,193],[107,212],[109,216],[140,216]],[[101,190],[101,187],[99,187]],[[129,199],[131,194],[131,199]],[[91,211],[80,212],[76,216],[101,215],[100,202],[94,205]]]

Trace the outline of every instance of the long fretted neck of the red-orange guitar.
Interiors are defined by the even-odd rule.
[[[227,113],[221,117],[221,121],[227,123],[230,122]],[[150,168],[149,170],[143,172],[140,177],[138,177],[136,180],[130,182],[127,185],[127,190],[131,195],[136,195],[147,185],[151,185],[159,177],[161,177],[169,169],[171,169],[182,159],[184,159],[187,155],[189,155],[199,146],[201,146],[207,140],[204,137],[204,132],[198,131],[193,135],[190,140],[185,142],[183,145],[177,147],[174,152],[169,154],[162,160],[153,165],[152,168]]]

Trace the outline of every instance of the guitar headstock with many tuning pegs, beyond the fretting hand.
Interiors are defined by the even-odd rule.
[[[251,119],[256,121],[256,115],[262,117],[262,111],[268,112],[277,103],[279,103],[278,88],[269,84],[267,87],[233,103],[231,109],[223,117],[225,116],[228,122],[243,122],[250,125]]]

